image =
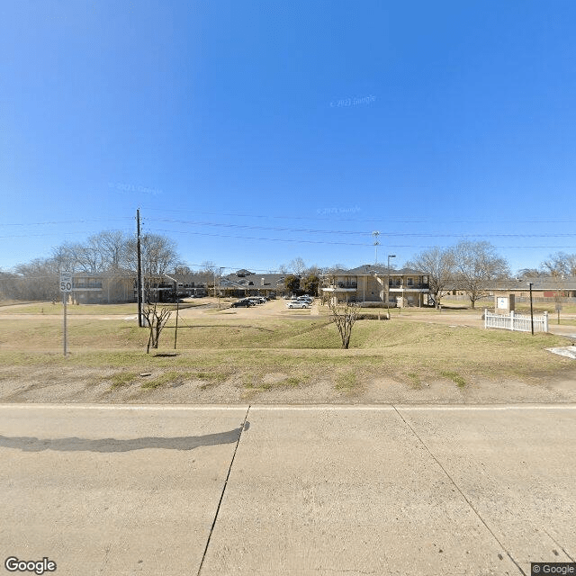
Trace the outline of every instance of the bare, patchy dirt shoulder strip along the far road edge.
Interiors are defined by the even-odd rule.
[[[211,378],[208,372],[149,376],[133,374],[114,386],[117,371],[97,368],[1,371],[0,402],[78,402],[139,404],[234,404],[246,401],[281,404],[500,404],[506,402],[574,402],[576,371],[563,378],[524,381],[466,376],[458,385],[449,377],[413,379],[336,375],[291,377],[267,373],[248,381],[246,374]],[[147,383],[157,385],[147,386]]]

